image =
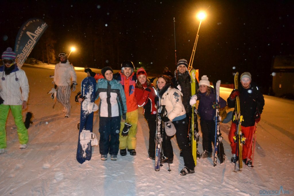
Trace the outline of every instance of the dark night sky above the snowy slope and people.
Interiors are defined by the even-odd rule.
[[[211,82],[233,83],[233,72],[248,71],[267,93],[272,59],[294,53],[294,1],[290,0],[37,0],[0,1],[0,7],[1,51],[14,48],[20,26],[37,17],[49,25],[43,36],[51,35],[56,41],[56,58],[75,46],[77,51],[69,60],[78,67],[119,69],[123,60],[131,60],[153,75],[161,74],[164,67],[174,71],[175,36],[177,60],[189,62],[200,10],[206,11],[207,18],[201,24],[193,67]],[[30,57],[37,58],[43,36]]]

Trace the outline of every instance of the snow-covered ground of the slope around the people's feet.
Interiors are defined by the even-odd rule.
[[[154,161],[147,152],[148,126],[141,114],[136,156],[118,155],[117,161],[101,161],[95,146],[91,161],[81,165],[76,161],[80,111],[74,102],[76,93],[71,96],[71,117],[64,118],[61,104],[57,102],[52,109],[53,101],[47,95],[53,87],[49,75],[54,70],[52,66],[44,67],[23,67],[30,85],[29,106],[24,115],[33,112],[34,123],[28,129],[28,148],[20,150],[16,126],[9,114],[7,148],[0,155],[0,195],[259,195],[278,194],[281,186],[288,190],[284,195],[293,195],[294,101],[265,95],[265,108],[257,127],[255,167],[243,165],[241,172],[233,172],[234,164],[230,162],[230,122],[221,124],[227,155],[223,164],[218,162],[213,167],[211,158],[199,159],[195,174],[180,176],[183,158],[173,138],[175,157],[171,172],[167,171],[167,164],[155,172]],[[80,84],[86,73],[80,71],[77,76]],[[221,97],[227,99],[231,89],[220,91]],[[98,121],[95,112],[93,132],[99,137]]]

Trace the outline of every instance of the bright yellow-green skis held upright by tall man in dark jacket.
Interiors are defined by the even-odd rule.
[[[194,95],[196,93],[196,70],[192,69],[191,72],[191,93]],[[190,120],[190,133],[191,133],[191,147],[192,147],[192,155],[195,162],[197,164],[197,140],[199,141],[199,130],[198,130],[198,121],[197,121],[197,110],[196,104],[191,107],[191,120]]]

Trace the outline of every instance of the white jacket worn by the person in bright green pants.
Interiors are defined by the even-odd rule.
[[[29,98],[29,82],[24,70],[15,67],[9,74],[5,75],[4,66],[0,67],[0,75],[4,77],[0,82],[0,96],[4,99],[4,105],[22,105]],[[16,81],[16,78],[18,80]]]

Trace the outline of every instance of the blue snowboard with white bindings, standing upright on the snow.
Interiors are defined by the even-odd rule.
[[[83,79],[81,84],[80,97],[85,97],[84,101],[94,102],[95,90],[96,90],[96,80],[93,77],[86,77]],[[83,110],[82,104],[81,104],[81,117],[80,117],[80,131],[78,134],[78,150],[76,152],[76,160],[81,164],[85,162],[86,160],[91,160],[92,146],[91,146],[91,141],[85,142],[85,140],[80,140],[80,134],[83,130],[93,132],[93,117],[94,117],[93,112],[89,114],[87,110]]]

